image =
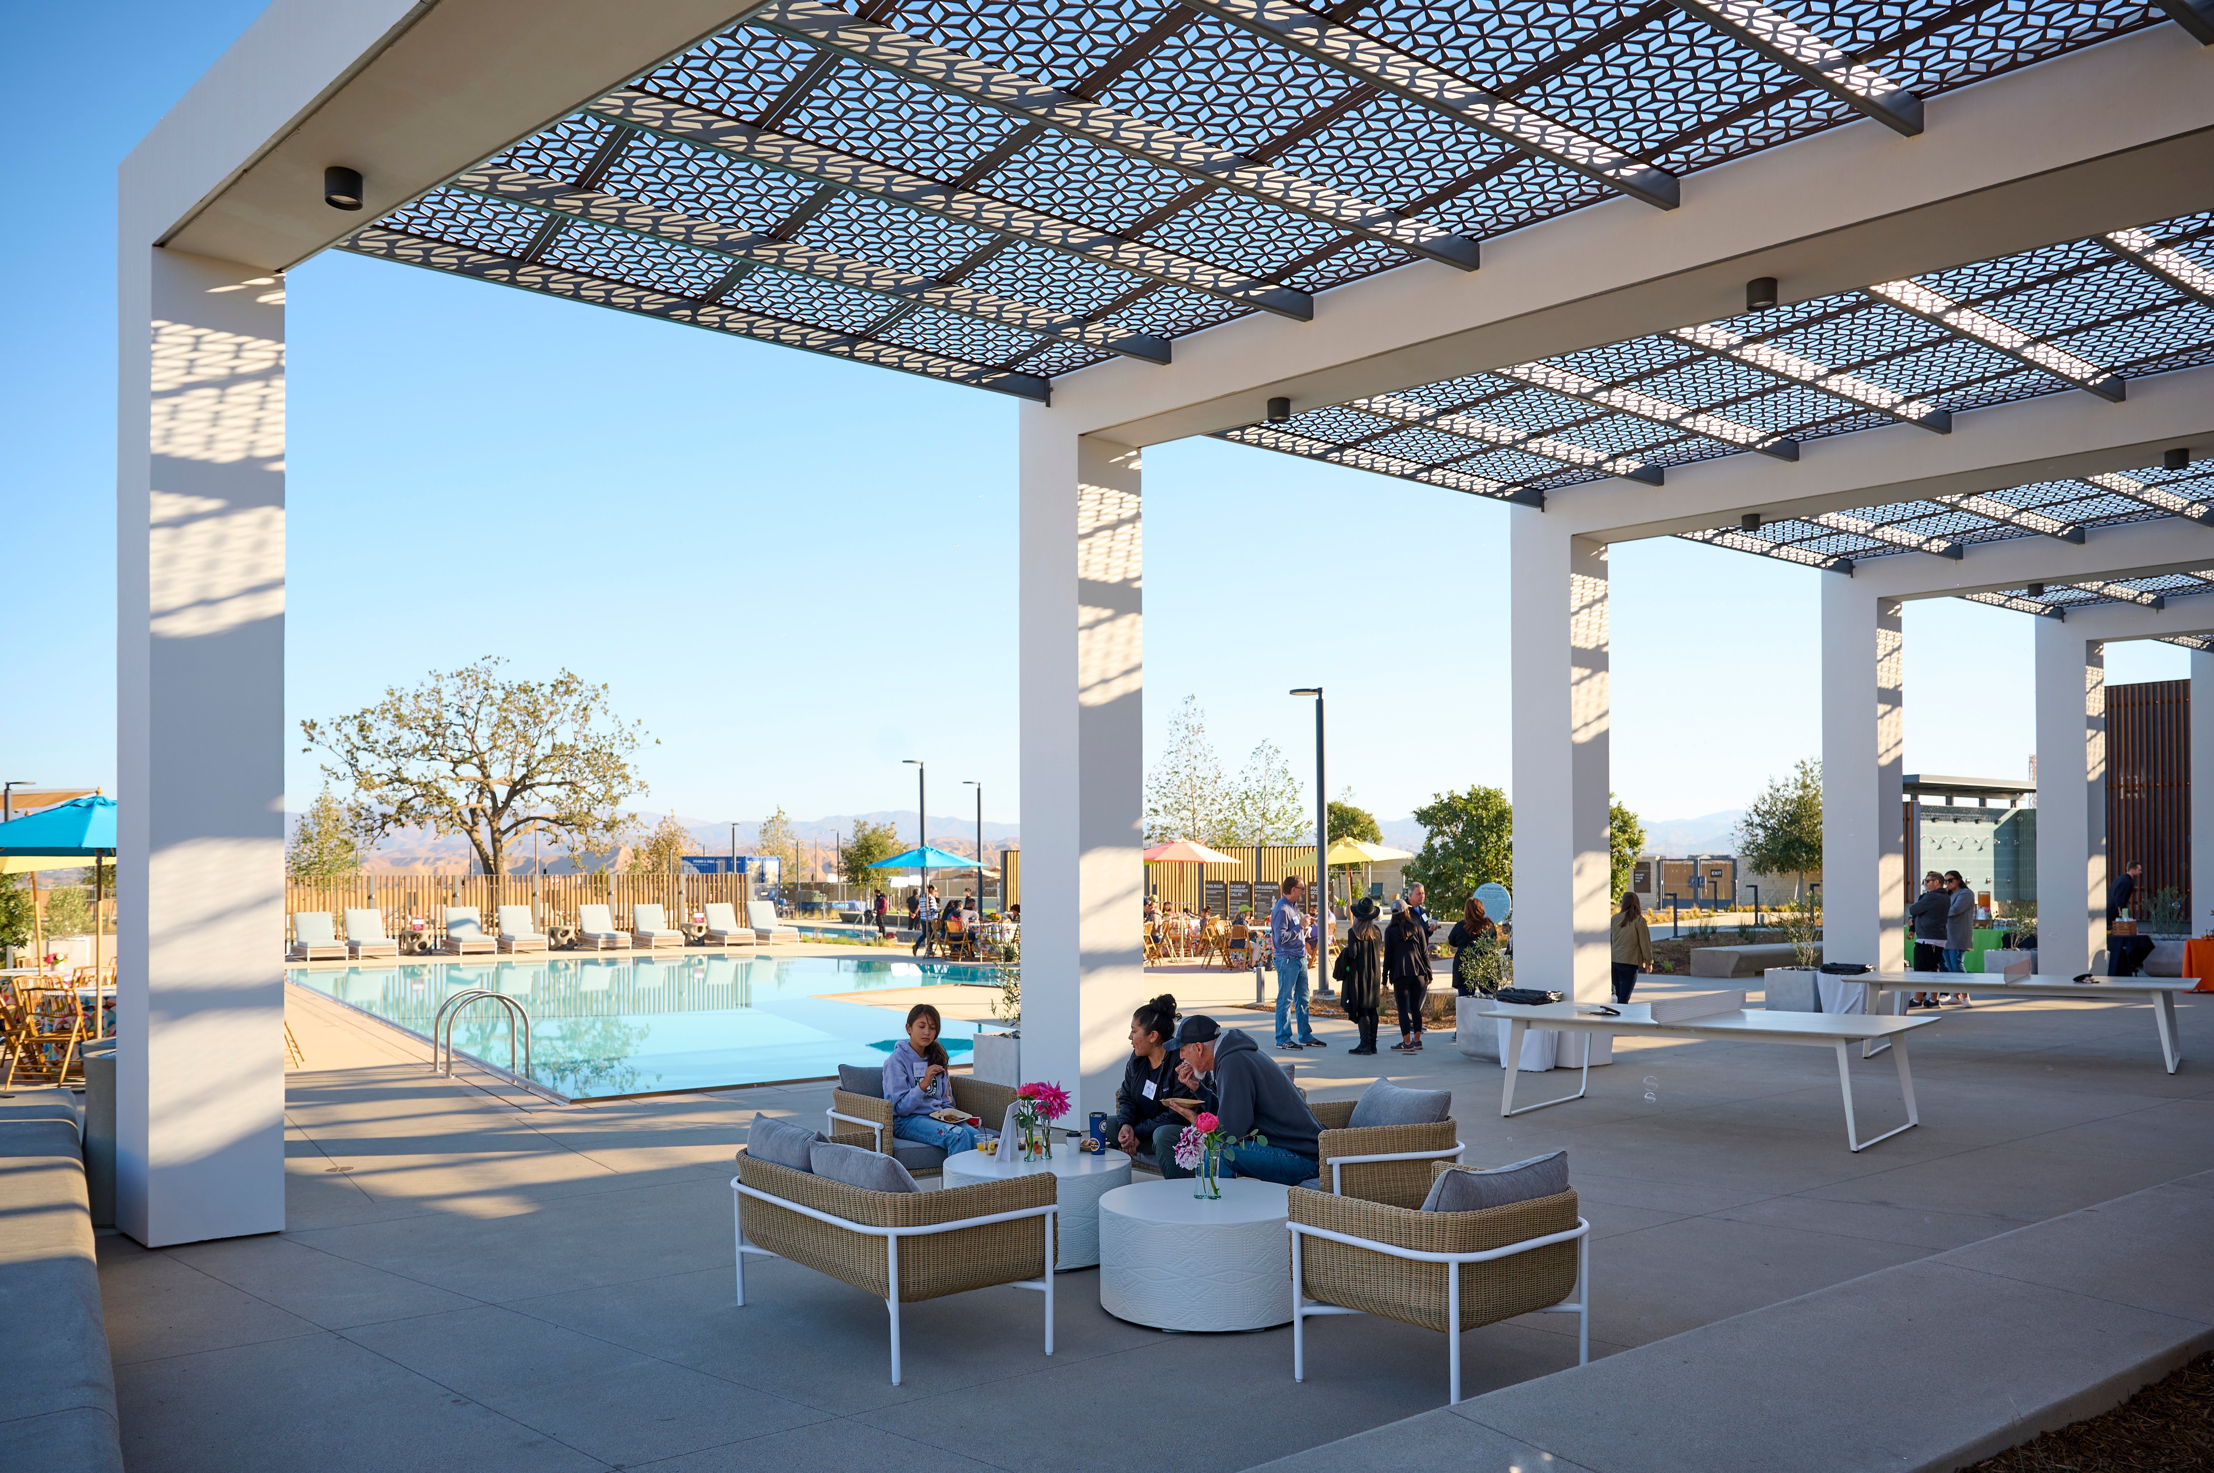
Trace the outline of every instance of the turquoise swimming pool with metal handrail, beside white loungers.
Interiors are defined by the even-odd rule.
[[[857,995],[987,986],[994,970],[877,957],[693,955],[294,968],[286,977],[425,1037],[454,992],[505,992],[531,1014],[531,1079],[569,1099],[604,1099],[881,1065],[903,1037],[906,1008],[866,1006]],[[505,1065],[503,1012],[492,1001],[469,1006],[454,1026],[454,1048]],[[945,1050],[956,1063],[968,1059],[974,1032],[974,1023],[945,1019]]]

